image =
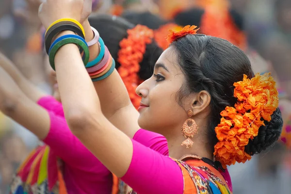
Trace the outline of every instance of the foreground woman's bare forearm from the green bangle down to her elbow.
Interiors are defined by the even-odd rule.
[[[59,36],[70,33],[62,32]],[[78,114],[80,110],[92,113],[100,109],[97,93],[76,45],[67,44],[58,50],[55,67],[66,117]]]

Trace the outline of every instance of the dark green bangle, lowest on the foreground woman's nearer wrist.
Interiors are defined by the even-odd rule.
[[[59,42],[57,42],[50,50],[49,52],[49,64],[53,70],[55,70],[55,64],[54,64],[54,58],[58,50],[63,47],[66,44],[76,44],[81,47],[81,49],[84,51],[84,57],[83,57],[83,63],[86,65],[89,61],[89,48],[78,38],[65,38]]]

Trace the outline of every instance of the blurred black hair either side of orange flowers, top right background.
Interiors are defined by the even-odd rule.
[[[200,27],[201,18],[204,14],[204,9],[201,8],[192,8],[178,13],[174,21],[180,26],[195,25]],[[229,14],[232,17],[234,24],[240,29],[243,30],[243,17],[234,9],[229,10]]]

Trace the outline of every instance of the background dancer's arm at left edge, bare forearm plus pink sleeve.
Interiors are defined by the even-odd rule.
[[[34,133],[68,165],[100,165],[92,153],[72,134],[65,118],[33,102],[0,67],[0,111]]]

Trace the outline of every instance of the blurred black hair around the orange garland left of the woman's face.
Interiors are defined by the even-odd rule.
[[[117,69],[120,66],[117,62],[117,54],[120,49],[119,42],[128,36],[127,30],[132,29],[135,25],[124,18],[105,14],[91,16],[89,22],[102,37],[115,60]],[[141,79],[146,80],[152,76],[153,66],[161,54],[162,49],[157,46],[154,40],[151,44],[146,45],[146,52],[143,61],[140,63],[139,77]]]

